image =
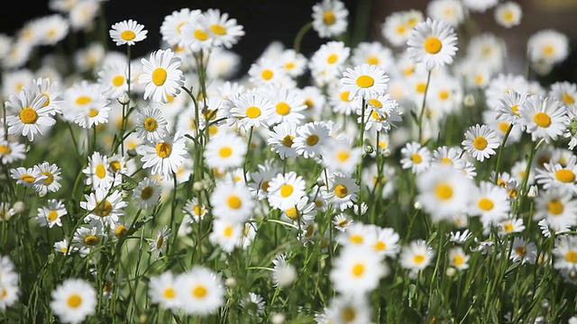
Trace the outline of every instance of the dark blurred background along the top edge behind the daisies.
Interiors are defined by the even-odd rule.
[[[258,58],[274,40],[291,48],[295,34],[311,21],[312,6],[321,0],[109,0],[105,1],[105,20],[108,25],[127,19],[142,23],[149,31],[146,40],[133,46],[133,55],[142,56],[160,46],[160,24],[166,15],[184,7],[206,10],[218,8],[243,25],[245,35],[232,48],[242,56],[242,71]],[[349,9],[348,40],[382,40],[380,24],[394,11],[414,8],[426,13],[426,0],[343,0]],[[492,10],[473,13],[481,31],[491,31],[503,37],[511,57],[523,58],[528,37],[536,31],[552,28],[565,33],[577,49],[577,0],[517,0],[523,8],[522,23],[504,29],[495,23]],[[48,0],[11,1],[10,12],[4,10],[0,32],[14,35],[23,23],[50,12]],[[302,52],[310,54],[320,44],[315,31],[309,31],[302,42]],[[110,43],[113,47],[114,44]],[[562,65],[554,68],[549,78],[577,82],[577,55],[575,51]],[[547,80],[545,80],[547,81]]]

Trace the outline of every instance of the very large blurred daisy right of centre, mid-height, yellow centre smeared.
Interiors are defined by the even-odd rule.
[[[472,180],[452,167],[433,166],[417,175],[417,202],[435,221],[467,211],[474,190]]]

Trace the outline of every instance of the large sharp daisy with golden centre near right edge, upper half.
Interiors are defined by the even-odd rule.
[[[533,94],[519,108],[519,123],[531,134],[531,139],[556,140],[569,125],[567,108],[552,97]]]

